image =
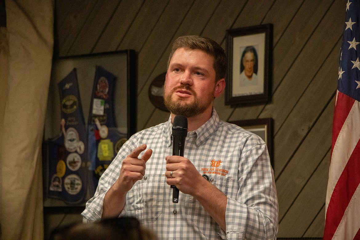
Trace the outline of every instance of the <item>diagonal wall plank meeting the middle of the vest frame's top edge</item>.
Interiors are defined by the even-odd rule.
[[[92,52],[103,53],[115,51],[139,13],[144,1],[145,0],[122,0],[111,21],[96,42]]]

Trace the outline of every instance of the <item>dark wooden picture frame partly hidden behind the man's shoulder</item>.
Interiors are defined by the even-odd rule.
[[[269,151],[271,167],[274,169],[274,120],[273,118],[257,118],[250,120],[239,120],[231,121],[229,123],[236,124],[245,130],[255,133],[262,140],[265,141],[267,145],[267,150]]]

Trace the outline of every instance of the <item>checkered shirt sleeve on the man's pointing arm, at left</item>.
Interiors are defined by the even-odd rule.
[[[130,140],[121,147],[114,160],[100,177],[94,196],[87,201],[85,210],[81,213],[83,222],[101,220],[105,194],[119,177],[122,160],[130,153],[129,149],[131,149]]]

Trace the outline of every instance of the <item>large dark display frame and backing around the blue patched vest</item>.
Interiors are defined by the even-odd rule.
[[[114,51],[87,55],[66,56],[54,58],[49,86],[49,99],[45,116],[44,146],[43,146],[43,179],[44,179],[44,207],[58,209],[58,207],[77,207],[83,209],[85,203],[68,205],[64,201],[49,198],[49,174],[47,162],[47,144],[51,138],[59,133],[61,104],[58,82],[63,80],[74,68],[77,69],[77,80],[80,100],[85,123],[89,119],[91,93],[94,84],[96,66],[99,65],[116,77],[113,110],[117,129],[126,133],[127,139],[136,132],[137,128],[137,67],[136,53],[134,50]],[[86,200],[91,196],[87,195]]]

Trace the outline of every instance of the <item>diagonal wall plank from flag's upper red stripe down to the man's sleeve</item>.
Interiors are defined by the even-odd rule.
[[[276,180],[279,201],[279,222],[285,216],[293,200],[296,199],[297,194],[301,191],[316,166],[318,166],[330,148],[333,112],[334,98],[327,105],[314,127],[311,128],[306,139]],[[326,185],[323,187],[324,191],[326,191]]]

